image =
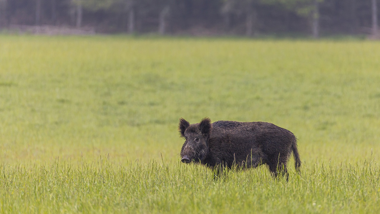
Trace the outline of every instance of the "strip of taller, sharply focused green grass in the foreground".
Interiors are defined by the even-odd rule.
[[[102,165],[102,163],[104,165]],[[151,162],[81,168],[2,169],[3,212],[36,213],[377,213],[379,166],[318,166],[274,180],[264,168],[214,181],[200,166]],[[4,176],[5,175],[5,176]]]

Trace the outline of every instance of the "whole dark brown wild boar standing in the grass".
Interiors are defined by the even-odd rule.
[[[266,122],[216,121],[203,118],[191,124],[180,118],[179,133],[186,139],[181,149],[182,162],[193,161],[217,169],[255,168],[267,164],[277,177],[288,178],[287,162],[293,152],[295,168],[301,160],[297,138],[287,129]]]

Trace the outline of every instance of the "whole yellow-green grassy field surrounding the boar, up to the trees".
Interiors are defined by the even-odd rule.
[[[380,43],[0,35],[1,213],[380,213]],[[301,173],[213,180],[180,117],[267,121]]]

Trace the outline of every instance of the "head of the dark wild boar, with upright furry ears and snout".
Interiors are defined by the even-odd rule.
[[[212,129],[210,118],[203,118],[200,123],[191,125],[180,118],[178,129],[181,137],[185,139],[180,153],[181,161],[183,163],[203,161],[209,151],[207,139]]]

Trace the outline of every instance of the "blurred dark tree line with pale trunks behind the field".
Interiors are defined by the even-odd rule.
[[[377,0],[0,0],[0,28],[99,33],[378,35],[377,19]]]

